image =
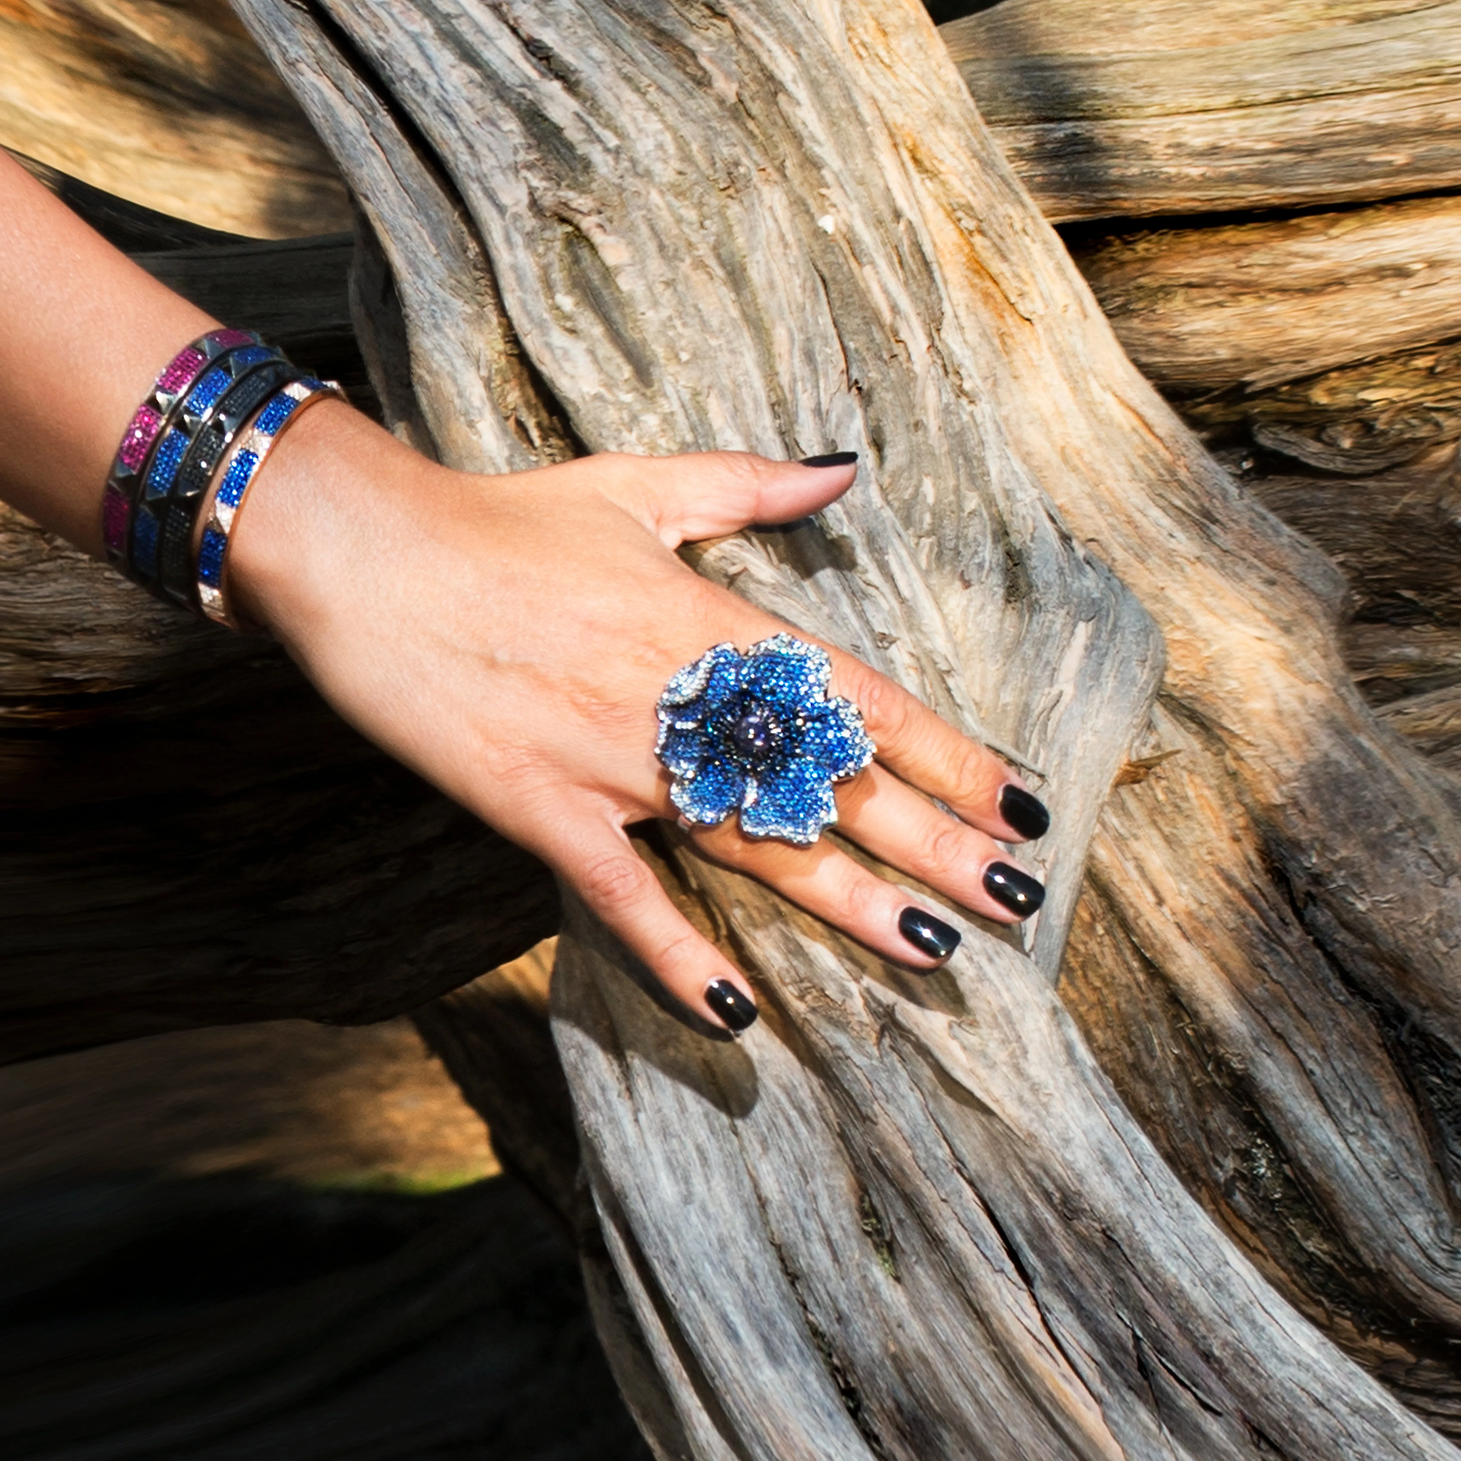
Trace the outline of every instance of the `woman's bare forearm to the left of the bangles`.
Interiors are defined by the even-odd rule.
[[[137,402],[218,321],[0,152],[0,497],[101,554],[101,492]]]

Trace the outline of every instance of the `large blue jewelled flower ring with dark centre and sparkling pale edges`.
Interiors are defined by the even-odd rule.
[[[741,655],[716,644],[659,697],[655,754],[671,799],[701,827],[741,812],[748,837],[811,846],[837,820],[833,783],[856,776],[875,747],[850,700],[827,695],[827,652],[773,634]]]

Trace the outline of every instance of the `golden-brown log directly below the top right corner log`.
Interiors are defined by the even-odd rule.
[[[1367,475],[1461,435],[1458,222],[1438,197],[1067,241],[1189,421]]]

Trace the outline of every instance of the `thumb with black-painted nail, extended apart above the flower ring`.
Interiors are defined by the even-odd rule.
[[[669,548],[751,523],[795,523],[834,503],[858,475],[856,451],[805,462],[773,462],[751,451],[633,460],[640,469],[633,507]]]

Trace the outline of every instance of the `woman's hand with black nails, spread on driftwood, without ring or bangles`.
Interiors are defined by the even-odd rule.
[[[745,977],[624,828],[678,818],[655,757],[666,681],[712,644],[745,650],[787,625],[674,549],[805,517],[853,475],[709,453],[473,476],[327,403],[260,472],[234,532],[229,593],[358,729],[542,858],[685,1005],[744,1029],[755,1018]],[[831,694],[862,709],[878,747],[877,764],[837,789],[840,831],[986,918],[1033,913],[1039,884],[993,839],[1039,836],[1040,804],[891,681],[831,659]],[[825,839],[752,840],[733,815],[691,836],[888,958],[934,969],[958,941]]]

